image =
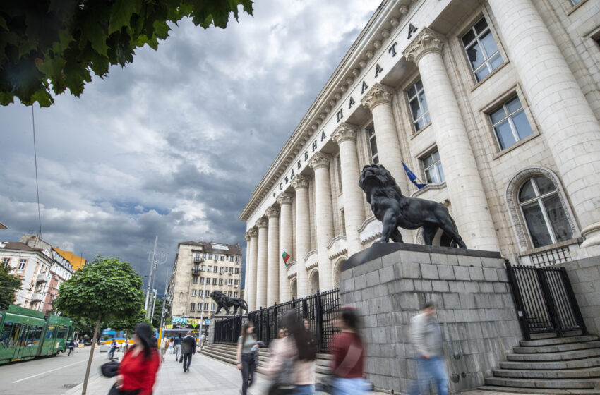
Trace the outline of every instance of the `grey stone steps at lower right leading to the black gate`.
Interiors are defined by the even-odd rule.
[[[521,341],[480,389],[522,394],[600,394],[595,335]]]

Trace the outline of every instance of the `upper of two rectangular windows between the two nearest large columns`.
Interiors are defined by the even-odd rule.
[[[478,83],[503,63],[486,18],[481,18],[462,36],[462,47]]]

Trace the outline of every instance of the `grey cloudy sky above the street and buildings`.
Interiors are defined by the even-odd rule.
[[[158,235],[240,243],[238,220],[277,152],[380,0],[261,0],[225,30],[173,26],[157,51],[35,107],[42,238],[148,274]],[[0,240],[37,233],[32,109],[0,107]]]

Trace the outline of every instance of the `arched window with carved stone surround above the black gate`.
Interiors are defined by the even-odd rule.
[[[550,178],[534,176],[527,179],[519,190],[518,201],[534,248],[573,237],[558,191]]]

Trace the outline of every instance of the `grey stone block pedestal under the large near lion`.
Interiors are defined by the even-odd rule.
[[[344,262],[340,303],[363,319],[365,372],[379,388],[406,393],[416,378],[410,319],[438,307],[450,391],[473,389],[522,339],[499,253],[376,244]]]

